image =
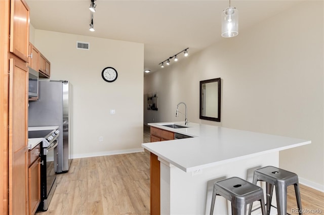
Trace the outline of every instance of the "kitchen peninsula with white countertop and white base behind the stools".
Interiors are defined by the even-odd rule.
[[[181,125],[171,128],[165,125]],[[151,195],[151,211],[160,214],[209,214],[210,191],[215,180],[237,176],[247,179],[249,170],[279,165],[279,151],[310,144],[309,140],[184,122],[150,123],[152,129],[192,138],[143,143],[159,161],[160,206]],[[152,132],[151,132],[152,133]],[[252,172],[253,173],[253,172]],[[251,173],[250,173],[251,174]],[[151,181],[152,189],[152,181]],[[225,201],[216,201],[216,213],[228,213]]]

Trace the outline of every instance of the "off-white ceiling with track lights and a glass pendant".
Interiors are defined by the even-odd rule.
[[[90,0],[26,2],[35,29],[144,43],[144,69],[152,72],[187,47],[192,55],[219,40],[231,39],[221,37],[221,13],[228,1],[97,0],[95,32],[89,31]],[[239,12],[242,32],[297,3],[300,1],[238,0],[231,6]]]

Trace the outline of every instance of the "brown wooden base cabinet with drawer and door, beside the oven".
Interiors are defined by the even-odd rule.
[[[29,215],[34,214],[41,202],[41,144],[29,151],[28,201]]]

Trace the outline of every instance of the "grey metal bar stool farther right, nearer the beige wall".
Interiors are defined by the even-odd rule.
[[[289,185],[294,185],[295,187],[299,214],[302,214],[302,203],[300,200],[298,176],[295,173],[276,167],[267,166],[254,171],[253,184],[257,184],[258,181],[266,182],[267,214],[270,214],[273,185],[275,186],[278,215],[287,214],[287,187]],[[252,204],[249,207],[249,212],[251,211],[251,208]]]

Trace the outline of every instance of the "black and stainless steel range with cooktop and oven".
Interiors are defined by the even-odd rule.
[[[28,131],[28,138],[44,137],[41,144],[41,203],[38,210],[47,210],[56,188],[55,165],[59,130]]]

